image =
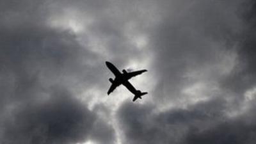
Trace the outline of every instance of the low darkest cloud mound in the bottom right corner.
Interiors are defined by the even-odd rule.
[[[187,143],[253,143],[255,125],[248,125],[240,120],[220,123],[206,131],[189,131]]]

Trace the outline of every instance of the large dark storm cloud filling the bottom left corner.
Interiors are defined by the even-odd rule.
[[[86,140],[95,115],[66,90],[44,102],[15,108],[4,121],[1,143],[77,143]]]

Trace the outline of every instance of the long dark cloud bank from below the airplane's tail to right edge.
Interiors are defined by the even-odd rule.
[[[225,115],[227,106],[223,99],[212,99],[157,113],[154,106],[125,103],[118,118],[124,143],[253,143],[253,110],[249,116],[230,118]]]

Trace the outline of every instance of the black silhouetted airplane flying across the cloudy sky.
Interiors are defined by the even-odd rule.
[[[114,80],[112,78],[109,78],[109,81],[111,82],[111,86],[108,90],[108,95],[111,92],[113,92],[117,86],[120,86],[121,84],[123,84],[131,93],[134,94],[134,98],[132,99],[132,101],[135,101],[138,98],[141,99],[142,95],[147,94],[147,92],[141,93],[140,90],[136,90],[134,88],[134,86],[132,86],[132,84],[128,81],[129,79],[131,79],[131,77],[138,76],[138,75],[142,74],[143,72],[147,72],[147,70],[138,70],[138,71],[135,71],[135,72],[127,72],[124,69],[124,70],[122,70],[123,73],[121,73],[115,67],[115,65],[113,65],[109,61],[106,61],[106,65],[109,68],[109,70],[111,70],[111,72],[113,72],[113,74],[115,75]]]

